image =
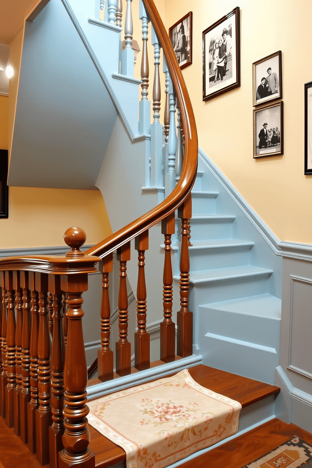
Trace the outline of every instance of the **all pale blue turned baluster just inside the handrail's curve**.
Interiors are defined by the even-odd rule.
[[[175,133],[175,94],[171,78],[169,77],[169,104],[170,104],[170,124],[168,136],[168,173],[166,175],[165,196],[172,192],[175,186],[175,154],[177,147],[177,139]]]

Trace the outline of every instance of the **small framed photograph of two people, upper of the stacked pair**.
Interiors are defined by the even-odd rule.
[[[282,52],[253,63],[254,106],[282,99]]]

